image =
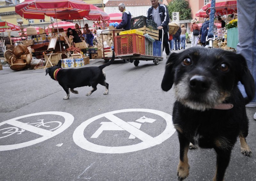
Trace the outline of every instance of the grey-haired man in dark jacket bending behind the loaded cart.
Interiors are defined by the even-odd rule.
[[[124,30],[130,30],[131,29],[131,19],[132,19],[132,14],[125,9],[124,3],[120,3],[118,5],[118,9],[122,15],[122,21],[119,25],[117,25],[114,29],[124,29]]]

